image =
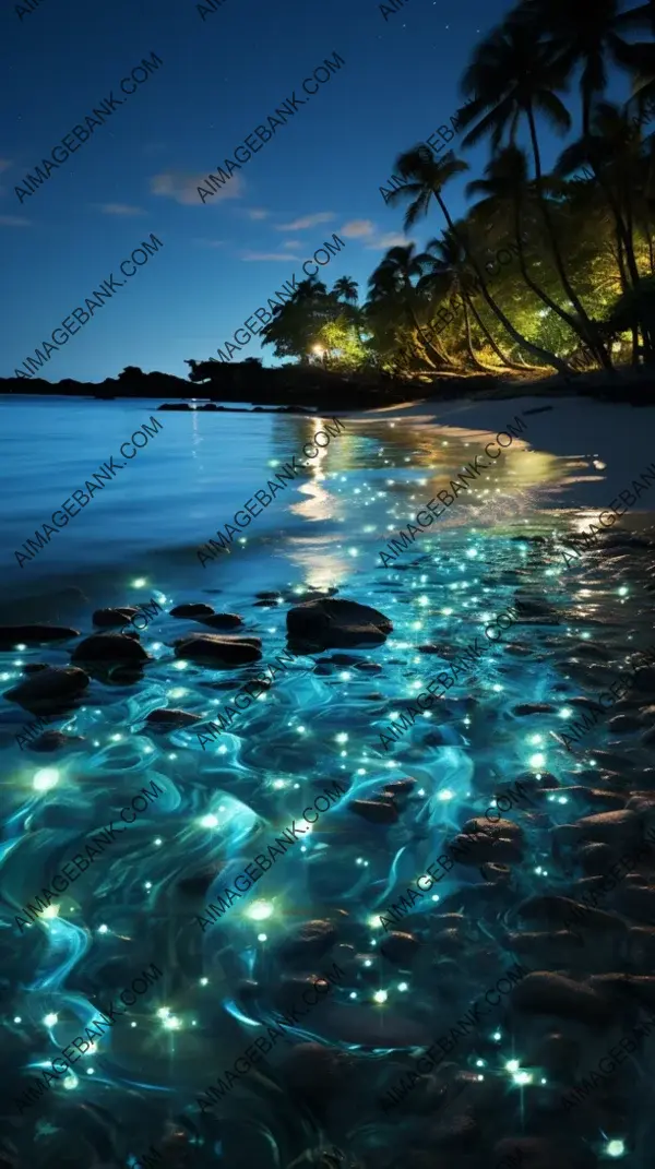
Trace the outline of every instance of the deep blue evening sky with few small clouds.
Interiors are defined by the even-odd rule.
[[[186,376],[185,358],[215,357],[333,231],[346,248],[326,283],[351,276],[363,297],[402,240],[402,210],[385,206],[380,184],[400,150],[449,122],[471,47],[509,7],[407,0],[385,21],[373,0],[225,0],[202,20],[191,0],[41,0],[20,20],[6,2],[0,375],[119,277],[151,233],[163,249],[51,353],[48,380],[99,381],[126,365]],[[15,186],[151,53],[159,69],[20,202]],[[202,178],[335,53],[340,71],[202,205]],[[488,145],[463,157],[471,173],[447,191],[455,214]],[[441,227],[435,207],[413,237]],[[257,338],[236,359],[249,355],[274,360]]]

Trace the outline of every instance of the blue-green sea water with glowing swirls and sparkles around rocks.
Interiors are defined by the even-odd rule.
[[[39,430],[28,422],[36,410]],[[558,825],[622,809],[633,791],[651,789],[653,672],[642,672],[639,686],[574,753],[561,738],[582,708],[578,699],[594,697],[626,669],[629,655],[653,643],[650,517],[626,517],[625,531],[632,524],[640,538],[613,532],[604,552],[585,553],[566,569],[557,545],[533,538],[590,521],[595,512],[567,507],[563,484],[598,477],[598,466],[593,452],[585,466],[531,448],[528,428],[478,489],[458,497],[384,568],[379,551],[387,540],[494,434],[345,419],[345,433],[318,466],[306,469],[303,485],[289,485],[229,555],[202,568],[196,547],[266,486],[267,464],[299,455],[320,423],[173,413],[157,415],[164,429],[129,470],[21,570],[13,549],[82,486],[87,471],[118,455],[152,406],[12,402],[2,413],[14,499],[2,537],[13,563],[4,592],[7,620],[70,623],[87,636],[92,611],[105,604],[152,596],[168,610],[204,601],[243,617],[239,634],[261,637],[262,664],[287,645],[287,613],[308,592],[336,589],[381,610],[394,627],[377,648],[297,655],[266,697],[239,714],[232,733],[206,745],[194,728],[154,734],[144,719],[163,706],[215,719],[261,665],[218,671],[177,659],[173,639],[202,627],[167,613],[140,634],[152,659],[143,679],[108,684],[94,677],[81,705],[53,719],[53,727],[83,735],[83,743],[55,755],[21,752],[14,735],[32,715],[2,700],[9,1021],[2,1067],[11,1085],[4,1105],[14,1116],[5,1142],[18,1146],[21,1164],[29,1155],[30,1164],[124,1165],[154,1142],[166,1147],[172,1167],[287,1169],[305,1149],[313,1161],[298,1165],[320,1164],[317,1150],[335,1142],[365,1167],[427,1169],[450,1164],[454,1150],[456,1163],[476,1169],[496,1163],[503,1139],[550,1136],[557,1118],[557,1126],[568,1125],[568,1149],[597,1157],[620,1137],[630,1142],[630,1163],[646,1169],[653,1134],[639,1091],[632,1098],[616,1092],[609,1120],[601,1098],[600,1120],[584,1107],[557,1112],[567,1086],[626,1030],[619,1010],[599,1037],[580,1018],[520,1012],[503,998],[447,1057],[434,1082],[388,1115],[380,1099],[414,1066],[419,1049],[447,1035],[516,962],[575,980],[650,973],[649,939],[628,932],[647,925],[643,911],[625,888],[602,905],[621,922],[620,945],[608,946],[607,935],[581,948],[568,939],[558,946],[535,939],[558,927],[535,925],[538,908],[518,908],[537,893],[579,897],[574,881],[598,871],[588,858],[584,867]],[[257,604],[261,590],[278,596]],[[380,733],[398,721],[394,715],[517,602],[528,614],[386,750]],[[75,644],[4,652],[4,691],[23,677],[26,664],[68,664]],[[421,651],[426,645],[430,652]],[[551,710],[517,714],[529,703]],[[43,776],[43,769],[51,770]],[[349,809],[352,800],[370,800],[407,777],[415,782],[397,795],[399,815],[389,823],[368,823]],[[119,823],[120,809],[153,780],[161,794],[80,873],[56,913],[18,926],[21,907],[34,905],[91,835]],[[415,939],[415,953],[380,957],[379,914],[517,780],[530,794],[506,815],[518,825],[517,855],[505,857],[505,867],[485,870],[489,880],[480,862],[455,865],[439,892],[416,900],[398,926]],[[234,887],[236,874],[284,828],[299,824],[303,810],[335,782],[347,789],[339,802],[276,859],[256,890],[202,928],[204,906]],[[324,948],[320,939],[305,939],[296,954],[281,948],[312,920],[336,932],[324,927]],[[405,945],[409,952],[413,943]],[[14,1128],[19,1077],[39,1074],[152,962],[163,971],[157,984]],[[333,962],[343,970],[338,984],[302,1024],[287,1026],[284,1040],[213,1114],[201,1114],[198,1099],[208,1084],[225,1079],[253,1037],[299,1001],[299,980],[331,971]],[[384,1002],[375,998],[381,991]],[[524,1085],[513,1080],[516,1068],[505,1067],[512,1058],[532,1078]],[[629,1064],[628,1071],[641,1082],[649,1068],[646,1047],[639,1067]],[[454,1135],[463,1113],[475,1116],[475,1139],[461,1125]],[[447,1126],[451,1153],[435,1154]]]

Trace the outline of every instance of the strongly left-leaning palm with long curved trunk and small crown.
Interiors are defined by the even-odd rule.
[[[474,109],[476,104],[477,103],[474,102],[469,109]],[[558,358],[554,353],[551,353],[549,350],[544,350],[542,346],[535,345],[533,341],[529,341],[526,337],[523,337],[522,333],[513,327],[511,320],[509,320],[503,310],[491,297],[477,258],[473,253],[467,250],[466,242],[462,240],[461,233],[457,230],[450,217],[448,207],[441,196],[441,191],[456,174],[461,174],[462,171],[468,171],[468,162],[463,162],[461,159],[455,158],[453,151],[448,151],[442,159],[435,161],[429,150],[426,146],[420,145],[414,146],[412,150],[401,154],[395,162],[395,167],[398,167],[402,178],[408,181],[404,187],[392,192],[387,202],[395,206],[397,203],[411,200],[409,207],[405,213],[405,230],[413,227],[421,216],[427,215],[429,201],[434,198],[441,208],[443,217],[446,219],[454,238],[457,240],[467,251],[469,263],[475,269],[480,281],[480,290],[487,300],[487,304],[510,334],[512,340],[515,340],[517,345],[529,350],[530,353],[533,353],[535,357],[539,358],[543,364],[553,366],[553,368],[558,369],[560,373],[567,374],[567,366],[560,360],[560,358]]]

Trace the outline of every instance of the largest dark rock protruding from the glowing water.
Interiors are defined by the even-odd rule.
[[[305,601],[287,614],[290,642],[317,649],[381,645],[393,631],[388,617],[357,601],[322,597]]]

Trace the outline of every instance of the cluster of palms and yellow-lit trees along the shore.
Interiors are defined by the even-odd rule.
[[[347,277],[302,282],[262,331],[277,358],[429,378],[655,362],[655,7],[620,7],[522,0],[490,32],[461,81],[458,153],[405,151],[385,193],[406,231],[436,213],[441,235],[387,251],[363,304]],[[609,68],[630,82],[622,108],[605,99]],[[545,174],[539,132],[570,133],[575,79],[581,134]],[[454,222],[444,191],[487,137],[477,201]]]

